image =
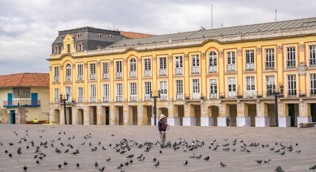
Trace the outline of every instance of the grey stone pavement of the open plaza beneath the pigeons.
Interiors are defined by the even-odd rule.
[[[193,151],[183,152],[182,146],[179,150],[174,151],[171,148],[161,149],[158,145],[155,145],[150,149],[148,153],[143,152],[145,148],[138,149],[136,146],[131,147],[131,151],[126,152],[124,155],[116,153],[113,150],[113,145],[119,143],[123,138],[128,140],[133,139],[137,142],[155,142],[159,138],[159,134],[156,126],[105,126],[105,125],[56,125],[55,128],[51,128],[50,125],[23,125],[23,124],[0,124],[0,141],[3,146],[0,146],[0,171],[23,171],[23,166],[27,166],[27,171],[95,171],[94,162],[97,161],[99,167],[105,166],[106,172],[119,172],[116,169],[120,163],[125,163],[129,159],[126,158],[129,154],[134,154],[133,163],[127,167],[123,167],[121,170],[125,172],[135,171],[243,171],[243,172],[271,172],[276,169],[277,166],[281,166],[285,172],[302,172],[309,171],[308,168],[316,165],[316,147],[315,147],[315,128],[276,128],[276,127],[199,127],[199,126],[171,126],[167,131],[167,141],[171,143],[179,142],[179,137],[183,137],[188,144],[191,144],[192,140],[198,139],[199,141],[205,141],[205,145],[202,148],[197,148]],[[26,136],[26,130],[28,129],[28,136]],[[41,133],[37,129],[46,129],[47,132]],[[14,131],[18,133],[15,135]],[[58,132],[66,132],[58,135]],[[84,139],[83,136],[91,133],[92,138]],[[111,134],[115,134],[114,137]],[[40,138],[39,136],[43,137]],[[75,139],[67,140],[69,137],[75,135]],[[48,141],[48,148],[43,146],[40,148],[42,152],[46,154],[43,160],[39,160],[40,164],[36,165],[36,159],[33,156],[36,155],[34,151],[35,146],[32,147],[30,143],[22,141],[21,144],[17,142],[21,137],[26,136],[27,141],[33,140],[36,145],[40,145],[40,141]],[[61,137],[61,140],[57,140]],[[228,141],[223,139],[228,138]],[[55,147],[63,151],[61,154],[55,152],[55,147],[51,147],[53,140]],[[209,150],[208,146],[214,139],[220,145],[217,151]],[[237,139],[237,144],[232,145],[232,141]],[[247,147],[251,152],[246,153],[239,151],[241,148],[240,140],[243,139],[247,145],[252,142],[259,142],[258,147]],[[101,145],[98,145],[98,142]],[[280,145],[275,145],[275,142],[282,143],[283,145],[294,145],[293,152],[286,151],[285,155],[279,155],[273,153],[269,148],[275,147],[275,150],[280,149]],[[61,146],[63,142],[65,146]],[[85,145],[81,145],[85,142]],[[91,142],[92,146],[88,143]],[[9,146],[8,143],[14,143]],[[67,148],[67,144],[72,144],[74,149]],[[109,144],[112,143],[112,147]],[[233,151],[223,151],[223,144],[230,143],[228,146],[230,149],[236,149]],[[298,146],[295,146],[298,143]],[[269,144],[268,148],[262,148],[261,145]],[[26,149],[29,145],[30,149]],[[97,151],[91,152],[91,148],[97,146]],[[102,146],[105,146],[106,151],[102,150]],[[17,154],[17,148],[21,147],[22,154]],[[4,153],[4,150],[8,150],[12,153],[13,157],[10,159],[8,154]],[[69,152],[73,152],[79,149],[80,154],[72,155],[70,153],[64,153],[66,149]],[[162,154],[159,154],[159,150],[162,150]],[[188,149],[187,149],[188,150]],[[286,149],[287,150],[287,149]],[[301,150],[301,153],[295,151]],[[281,151],[280,151],[281,152]],[[143,162],[138,162],[136,157],[142,154],[145,156]],[[197,156],[202,154],[201,159],[192,159],[189,156],[195,153]],[[204,157],[210,156],[209,161],[204,161]],[[110,162],[106,162],[106,158],[111,157]],[[159,160],[160,165],[158,168],[153,167],[152,159],[156,157]],[[269,163],[262,163],[258,165],[255,160],[271,159]],[[184,166],[182,162],[188,160],[188,165]],[[66,161],[69,164],[64,167],[63,162]],[[220,162],[223,162],[227,167],[222,168]],[[80,164],[80,168],[76,168],[76,163]],[[62,169],[58,169],[58,164],[62,164]]]

